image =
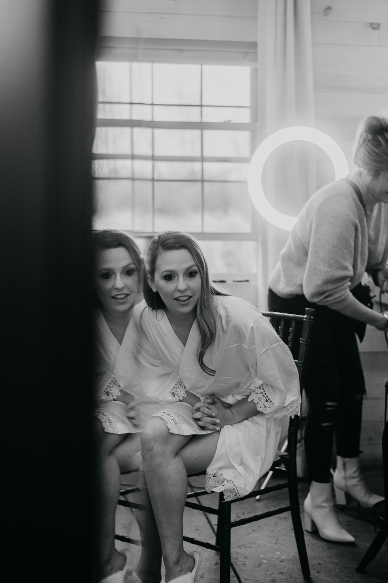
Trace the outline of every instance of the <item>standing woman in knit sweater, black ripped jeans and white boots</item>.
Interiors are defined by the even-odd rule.
[[[336,437],[337,503],[350,494],[364,507],[382,500],[365,486],[359,469],[365,381],[355,332],[365,325],[387,330],[388,313],[373,311],[361,285],[368,272],[388,290],[388,118],[366,118],[354,147],[356,169],[311,196],[291,230],[269,281],[269,309],[315,321],[305,390],[305,451],[311,486],[305,526],[336,542],[354,542],[334,512],[330,466]],[[361,300],[361,301],[360,301]]]

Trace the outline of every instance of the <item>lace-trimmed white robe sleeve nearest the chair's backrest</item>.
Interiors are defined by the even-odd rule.
[[[259,317],[248,332],[248,366],[257,381],[248,401],[254,401],[266,417],[300,414],[301,396],[297,367],[289,348],[280,340],[268,320]]]

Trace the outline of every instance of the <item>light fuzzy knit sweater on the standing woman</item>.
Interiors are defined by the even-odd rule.
[[[365,271],[388,260],[388,204],[366,190],[361,171],[349,178],[359,187],[366,213],[353,188],[331,182],[309,198],[290,232],[269,280],[280,297],[303,294],[312,303],[341,310]]]

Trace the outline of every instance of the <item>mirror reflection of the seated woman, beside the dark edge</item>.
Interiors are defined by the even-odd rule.
[[[141,300],[143,259],[137,245],[124,233],[104,230],[93,234],[95,247],[94,289],[99,309],[95,319],[95,342],[97,347],[97,370],[95,388],[97,410],[95,411],[98,439],[98,477],[96,480],[97,536],[95,574],[96,581],[122,583],[129,569],[129,555],[115,549],[115,512],[120,489],[120,470],[134,469],[140,462],[134,456],[140,452],[140,436],[130,389],[121,383],[116,366],[123,357],[123,345],[136,342],[129,326],[134,305]],[[124,342],[123,342],[124,341]],[[124,358],[126,359],[126,354]],[[129,376],[132,368],[126,359]],[[147,502],[148,498],[145,500]],[[143,503],[142,500],[138,500]],[[151,512],[151,518],[152,512]],[[146,524],[148,513],[138,513],[140,531]],[[156,532],[156,543],[152,557],[158,553],[159,539],[156,526],[147,523],[147,531]],[[149,535],[148,535],[149,536]],[[140,564],[151,564],[149,545],[144,545]],[[148,554],[147,554],[148,553]],[[159,552],[160,554],[160,552]],[[133,581],[136,575],[133,574]]]

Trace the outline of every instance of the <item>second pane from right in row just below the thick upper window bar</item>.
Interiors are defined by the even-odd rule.
[[[155,156],[201,156],[200,129],[154,129]]]

